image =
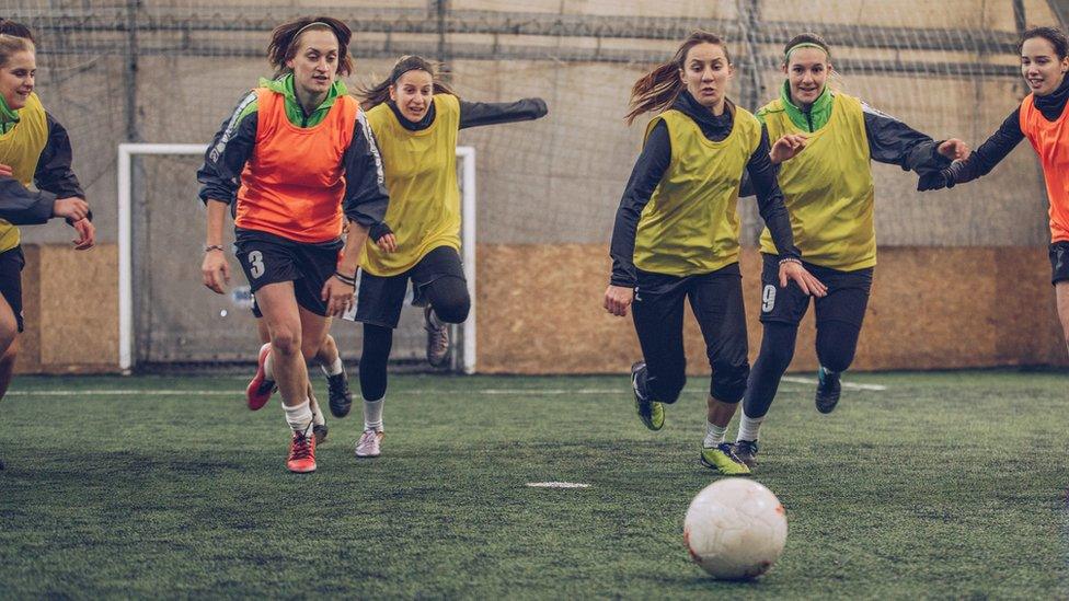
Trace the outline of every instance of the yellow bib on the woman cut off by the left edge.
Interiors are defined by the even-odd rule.
[[[30,187],[37,171],[37,161],[48,143],[48,119],[37,94],[30,94],[26,106],[18,113],[19,124],[0,135],[0,163],[11,166],[14,178]],[[0,253],[18,245],[19,228],[0,219]]]

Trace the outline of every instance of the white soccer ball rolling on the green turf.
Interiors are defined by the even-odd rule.
[[[783,552],[786,512],[760,484],[721,479],[690,501],[683,542],[694,563],[714,578],[756,578]]]

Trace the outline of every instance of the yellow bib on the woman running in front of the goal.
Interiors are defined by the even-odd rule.
[[[368,241],[361,266],[369,274],[395,276],[439,246],[460,250],[460,101],[451,94],[436,94],[434,106],[434,123],[421,131],[405,129],[387,104],[367,112],[390,193],[386,222],[398,239],[398,250],[392,253],[383,253]]]

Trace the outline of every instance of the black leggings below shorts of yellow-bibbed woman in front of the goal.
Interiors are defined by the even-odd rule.
[[[438,319],[462,323],[471,310],[471,297],[463,278],[442,276],[422,288]],[[360,394],[365,401],[386,396],[387,363],[393,348],[393,328],[364,324],[364,352],[360,356]]]

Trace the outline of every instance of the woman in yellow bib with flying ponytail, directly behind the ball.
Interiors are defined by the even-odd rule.
[[[734,74],[724,41],[698,31],[669,62],[635,83],[628,123],[663,112],[646,127],[617,211],[605,308],[625,316],[633,303],[645,359],[631,368],[635,405],[642,423],[659,430],[664,404],[675,403],[686,382],[682,317],[683,300],[690,300],[713,369],[701,461],[724,474],[745,474],[749,470],[724,442],[749,373],[736,215],[744,171],[780,253],[780,284],[791,280],[816,296],[825,288],[794,247],[768,135],[727,99]]]

